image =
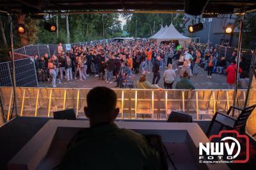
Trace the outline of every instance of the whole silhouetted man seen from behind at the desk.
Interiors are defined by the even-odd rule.
[[[143,135],[114,123],[119,109],[113,90],[93,88],[87,95],[87,105],[84,112],[90,128],[77,135],[60,169],[161,169],[159,155]]]

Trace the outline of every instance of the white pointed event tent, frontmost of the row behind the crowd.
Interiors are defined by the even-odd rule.
[[[169,40],[179,40],[179,43],[182,47],[186,47],[188,43],[191,42],[191,38],[184,36],[175,29],[173,24],[171,24],[161,35],[154,36],[154,39],[157,40],[157,43]]]

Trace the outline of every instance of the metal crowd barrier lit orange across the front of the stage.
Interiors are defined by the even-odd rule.
[[[73,88],[17,88],[17,108],[20,116],[52,117],[52,112],[74,108],[76,115],[84,117],[86,95],[90,89]],[[229,89],[152,90],[114,89],[120,108],[119,119],[166,120],[171,111],[193,116],[193,120],[211,120],[216,111],[226,112],[233,104]],[[4,112],[10,120],[13,89],[0,88]],[[239,90],[238,104],[243,107],[246,90]],[[254,98],[254,100],[256,100]],[[100,105],[99,105],[100,107]],[[14,111],[13,111],[14,115]]]

